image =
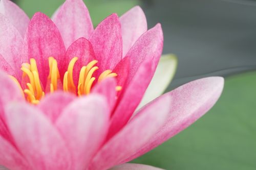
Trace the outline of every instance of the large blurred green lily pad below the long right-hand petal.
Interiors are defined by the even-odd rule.
[[[172,170],[256,169],[255,110],[256,72],[226,78],[214,108],[133,162]]]

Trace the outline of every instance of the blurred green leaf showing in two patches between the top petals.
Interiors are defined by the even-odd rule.
[[[52,16],[54,11],[65,1],[63,0],[26,0],[17,1],[16,3],[22,8],[29,17],[32,17],[35,12],[41,11],[48,16]],[[139,5],[139,0],[87,0],[84,1],[90,11],[94,26],[112,13],[117,13],[121,16],[124,12],[132,7]]]

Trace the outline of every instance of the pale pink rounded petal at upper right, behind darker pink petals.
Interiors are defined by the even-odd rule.
[[[125,57],[137,39],[147,31],[146,16],[142,9],[136,6],[123,14],[120,17],[120,22],[123,38],[123,57]]]

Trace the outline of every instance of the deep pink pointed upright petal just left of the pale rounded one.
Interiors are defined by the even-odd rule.
[[[117,14],[100,22],[89,40],[99,61],[99,72],[113,70],[122,58],[122,33]]]

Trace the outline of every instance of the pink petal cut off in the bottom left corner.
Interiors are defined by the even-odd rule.
[[[11,170],[30,169],[27,161],[2,136],[0,136],[0,164]]]

